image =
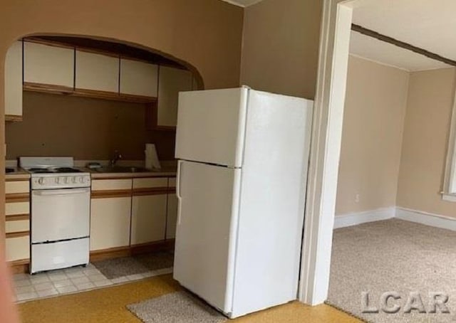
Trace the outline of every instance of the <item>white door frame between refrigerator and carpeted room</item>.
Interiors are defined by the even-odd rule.
[[[309,305],[328,297],[352,2],[323,1],[299,282],[299,300]]]

